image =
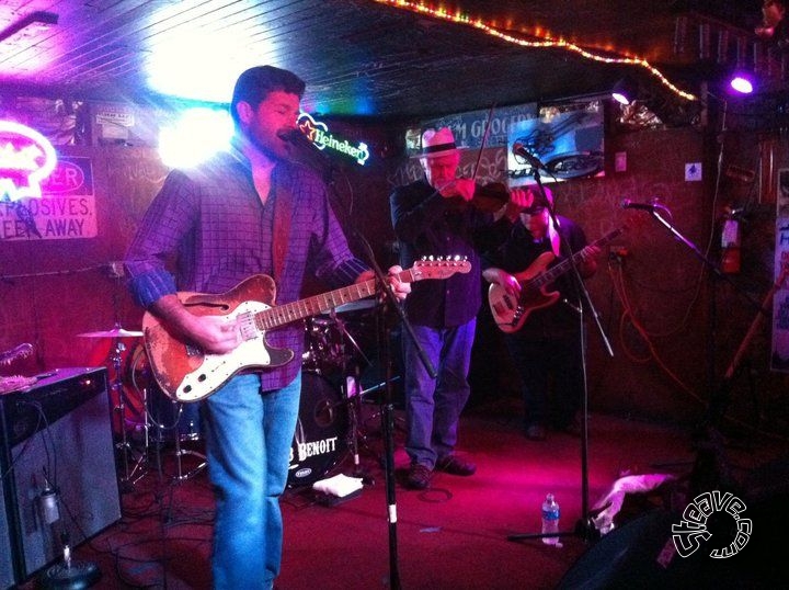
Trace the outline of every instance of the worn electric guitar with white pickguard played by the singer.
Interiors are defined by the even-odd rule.
[[[398,274],[404,283],[425,279],[448,279],[471,270],[459,258],[421,260]],[[267,330],[328,311],[346,303],[364,299],[377,292],[376,280],[348,285],[306,299],[274,306],[276,286],[265,274],[255,274],[220,295],[178,293],[181,303],[196,316],[229,316],[236,320],[242,342],[225,354],[206,353],[183,342],[156,316],[142,316],[142,332],[153,376],[164,394],[176,401],[199,401],[211,395],[243,370],[282,366],[294,353],[270,348]]]

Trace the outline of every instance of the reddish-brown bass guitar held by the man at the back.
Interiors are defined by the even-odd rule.
[[[502,285],[491,283],[488,290],[488,303],[496,326],[506,333],[516,332],[523,327],[531,311],[553,305],[559,299],[559,292],[547,291],[548,285],[572,269],[573,263],[580,263],[584,252],[590,248],[605,246],[624,230],[624,228],[618,228],[609,231],[583,250],[575,252],[572,259],[567,258],[550,269],[548,265],[553,262],[556,257],[552,252],[542,252],[537,260],[529,264],[528,269],[514,275],[521,283],[521,294],[517,297],[507,294]]]

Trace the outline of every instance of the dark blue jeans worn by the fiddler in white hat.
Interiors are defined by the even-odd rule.
[[[460,412],[468,401],[468,384],[477,319],[456,328],[413,326],[416,340],[438,373],[431,377],[413,340],[403,331],[405,367],[405,452],[411,463],[433,469],[457,443]]]

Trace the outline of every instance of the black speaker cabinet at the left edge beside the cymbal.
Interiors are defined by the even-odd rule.
[[[118,521],[106,370],[60,368],[0,396],[0,473],[3,588],[59,560],[64,534],[75,547]]]

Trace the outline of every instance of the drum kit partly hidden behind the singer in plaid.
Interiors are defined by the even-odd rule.
[[[365,299],[305,320],[301,399],[290,449],[289,488],[319,480],[348,452],[353,453],[358,468],[358,444],[365,439],[359,429],[359,404],[365,394],[381,387],[375,385],[365,390],[359,378],[361,373],[374,364],[358,340],[368,338],[374,331],[365,322],[369,316],[367,311],[376,307],[375,300]],[[142,332],[116,324],[108,330],[77,336],[112,341],[107,361],[112,367],[113,411],[119,423],[116,449],[122,462],[122,488],[133,487],[149,472],[151,450],[156,452],[156,464],[161,469],[159,452],[167,443],[172,443],[173,447],[174,481],[190,479],[199,473],[206,466],[205,455],[182,445],[202,440],[199,404],[181,404],[162,393],[152,377],[141,340],[127,349],[127,342],[141,339]],[[141,442],[135,434],[141,434]],[[183,468],[181,459],[184,455],[198,459],[191,470]],[[159,473],[161,475],[161,470]]]

